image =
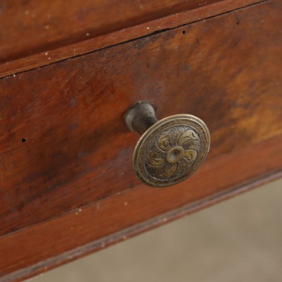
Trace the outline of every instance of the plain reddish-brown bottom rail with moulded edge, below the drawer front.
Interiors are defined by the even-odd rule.
[[[281,149],[282,135],[208,160],[188,183],[137,186],[3,237],[0,281],[21,281],[281,177]]]

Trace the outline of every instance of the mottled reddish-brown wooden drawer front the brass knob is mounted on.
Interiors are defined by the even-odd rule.
[[[1,235],[139,184],[138,135],[122,120],[132,102],[202,118],[209,159],[281,134],[281,8],[269,1],[1,79]]]

